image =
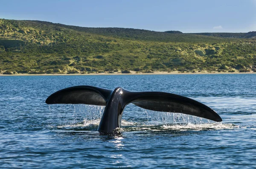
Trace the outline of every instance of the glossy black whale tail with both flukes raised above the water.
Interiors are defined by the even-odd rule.
[[[164,92],[131,92],[117,87],[108,90],[93,86],[75,86],[50,95],[47,104],[93,104],[106,106],[99,131],[111,132],[121,126],[125,106],[133,103],[148,110],[183,113],[220,122],[221,117],[208,106],[184,96]]]

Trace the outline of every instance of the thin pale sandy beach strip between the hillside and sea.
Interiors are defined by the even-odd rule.
[[[19,73],[19,74],[0,74],[0,76],[90,76],[90,75],[187,75],[187,74],[256,74],[256,72],[207,72],[207,71],[201,71],[201,72],[178,72],[178,71],[172,71],[172,72],[153,72],[153,73],[136,73],[134,71],[131,71],[131,73],[88,73],[88,74],[81,74],[81,73],[73,73],[73,74],[28,74],[28,73]]]

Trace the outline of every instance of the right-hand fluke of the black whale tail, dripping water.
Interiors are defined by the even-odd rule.
[[[159,112],[183,113],[220,122],[221,117],[210,107],[184,96],[164,92],[137,92],[133,104]]]

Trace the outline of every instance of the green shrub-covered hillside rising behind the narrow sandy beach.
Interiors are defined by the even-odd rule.
[[[0,19],[0,73],[256,70],[256,40]]]

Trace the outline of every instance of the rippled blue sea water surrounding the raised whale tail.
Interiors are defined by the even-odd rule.
[[[97,132],[102,106],[47,105],[93,85],[201,101],[217,123],[125,108],[117,135]],[[0,168],[256,168],[256,74],[0,76]]]

